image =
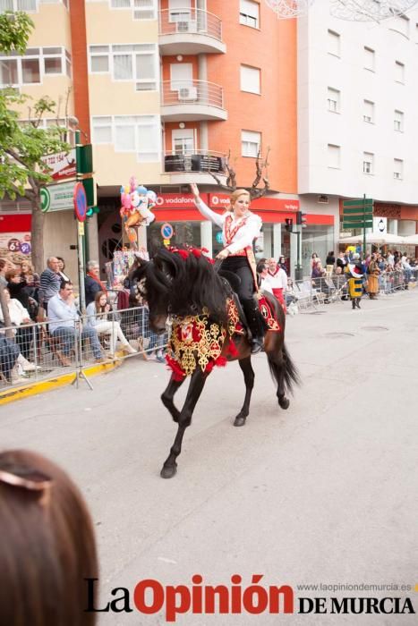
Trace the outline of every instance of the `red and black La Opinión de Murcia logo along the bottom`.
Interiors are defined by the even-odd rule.
[[[294,596],[290,585],[261,583],[263,574],[253,574],[251,584],[243,586],[239,574],[231,576],[230,585],[206,585],[200,574],[192,576],[187,585],[164,586],[156,579],[140,580],[132,594],[128,588],[116,587],[110,592],[106,604],[95,605],[95,590],[98,579],[88,578],[88,613],[132,613],[143,615],[164,612],[166,622],[176,622],[184,613],[196,615],[261,613],[299,614],[402,614],[415,613],[409,597],[301,597]]]

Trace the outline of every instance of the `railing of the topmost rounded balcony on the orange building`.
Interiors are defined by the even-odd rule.
[[[222,21],[217,15],[184,7],[159,12],[159,35],[205,35],[222,41]]]

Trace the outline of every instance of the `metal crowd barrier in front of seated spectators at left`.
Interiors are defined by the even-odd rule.
[[[149,328],[147,307],[0,328],[0,390],[74,373],[94,364],[140,356],[165,363],[167,332]],[[85,376],[84,376],[85,377]]]

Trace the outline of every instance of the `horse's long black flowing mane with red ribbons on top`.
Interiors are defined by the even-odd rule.
[[[160,309],[158,312],[162,312],[164,300],[172,315],[187,317],[208,311],[214,321],[226,324],[230,287],[201,250],[161,248],[134,276],[146,278],[146,299],[150,306]]]

